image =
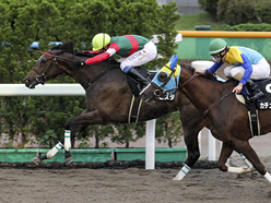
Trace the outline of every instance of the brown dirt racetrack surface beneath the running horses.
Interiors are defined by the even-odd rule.
[[[270,156],[261,157],[271,170]],[[231,165],[244,166],[236,154]],[[195,168],[181,181],[180,167],[0,169],[1,203],[268,203],[271,184],[258,172],[236,175]]]

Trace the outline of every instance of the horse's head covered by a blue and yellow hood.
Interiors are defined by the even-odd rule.
[[[177,65],[178,56],[173,56],[161,71],[156,73],[151,84],[141,93],[142,100],[150,103],[153,98],[165,97],[174,93],[178,86],[180,65]]]

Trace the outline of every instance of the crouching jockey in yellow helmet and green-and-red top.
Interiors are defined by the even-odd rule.
[[[110,37],[108,34],[99,33],[92,39],[94,53],[99,53],[85,61],[76,61],[78,65],[85,65],[104,61],[117,53],[119,59],[120,69],[141,84],[143,89],[150,83],[142,76],[133,67],[139,67],[148,63],[156,58],[157,48],[148,38],[139,35],[123,35]]]

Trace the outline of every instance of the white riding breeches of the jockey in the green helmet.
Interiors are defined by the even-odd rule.
[[[243,67],[226,67],[224,69],[225,76],[234,77],[237,73],[245,73],[245,69]],[[252,80],[263,80],[270,75],[270,65],[268,61],[262,58],[258,61],[257,64],[252,64],[252,73],[250,79]]]

